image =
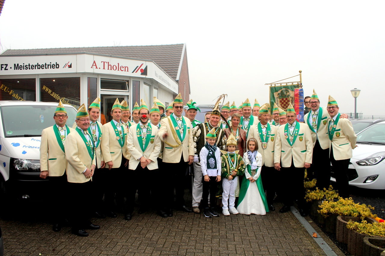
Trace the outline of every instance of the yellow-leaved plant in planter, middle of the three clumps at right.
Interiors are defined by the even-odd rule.
[[[373,215],[371,209],[374,209],[371,205],[354,203],[353,199],[350,198],[340,198],[338,201],[323,201],[319,206],[319,213],[322,214],[325,218],[332,214],[337,214],[341,216],[352,216],[360,217],[360,219],[365,218],[375,218],[376,215]]]

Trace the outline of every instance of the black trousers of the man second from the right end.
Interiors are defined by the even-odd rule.
[[[313,148],[313,160],[310,168],[306,169],[308,179],[316,179],[316,187],[322,190],[328,189],[330,185],[330,160],[329,149],[322,149],[318,140],[316,140]]]

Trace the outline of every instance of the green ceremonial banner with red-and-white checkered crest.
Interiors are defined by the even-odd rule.
[[[278,85],[270,86],[270,106],[271,111],[273,110],[274,103],[276,103],[280,108],[286,111],[289,106],[295,106],[294,102],[294,90],[299,88],[299,85]],[[303,98],[303,96],[302,96]],[[302,107],[303,109],[303,107]]]

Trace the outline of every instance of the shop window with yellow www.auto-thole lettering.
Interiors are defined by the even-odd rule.
[[[40,78],[40,100],[80,107],[80,77]]]

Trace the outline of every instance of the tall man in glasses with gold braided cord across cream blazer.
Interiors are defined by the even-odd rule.
[[[158,136],[164,142],[163,170],[166,171],[160,182],[164,186],[163,211],[171,217],[174,203],[174,187],[176,191],[177,209],[191,213],[184,201],[184,180],[187,165],[194,160],[194,142],[192,141],[191,121],[182,116],[183,99],[181,94],[172,103],[174,113],[161,120]]]

